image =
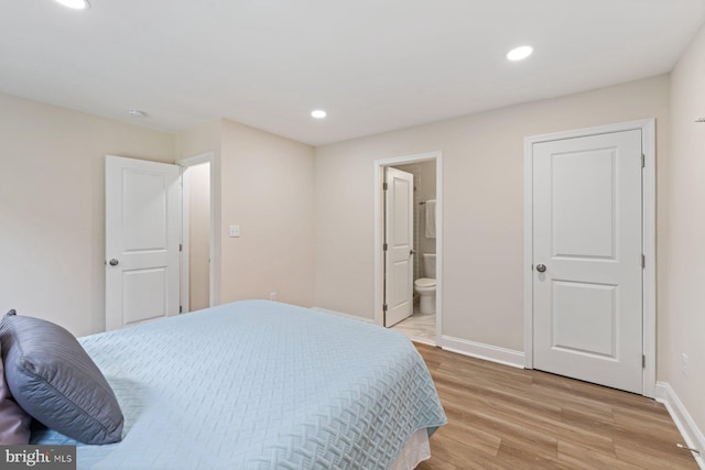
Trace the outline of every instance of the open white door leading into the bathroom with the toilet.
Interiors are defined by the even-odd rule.
[[[384,168],[384,326],[413,314],[414,175]]]

